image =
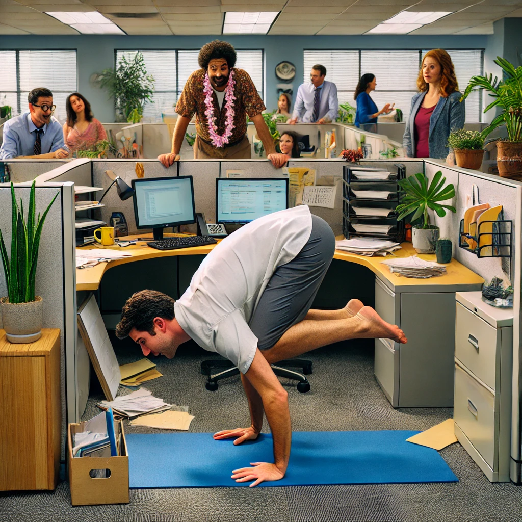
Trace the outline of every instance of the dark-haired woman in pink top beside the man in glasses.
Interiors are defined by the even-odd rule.
[[[79,92],[69,94],[65,109],[64,141],[72,153],[90,149],[98,141],[107,139],[103,125],[92,115],[90,103]]]

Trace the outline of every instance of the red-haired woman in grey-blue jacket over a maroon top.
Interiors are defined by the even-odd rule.
[[[446,51],[433,49],[424,55],[417,87],[419,93],[411,100],[410,117],[402,138],[406,155],[446,158],[450,152],[447,147],[450,131],[464,127],[466,119],[464,102],[459,102],[455,68]]]

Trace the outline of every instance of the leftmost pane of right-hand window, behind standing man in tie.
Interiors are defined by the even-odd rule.
[[[337,86],[339,103],[355,105],[353,93],[359,81],[359,51],[304,51],[305,83],[310,81],[310,71],[316,64],[326,67],[326,79]]]

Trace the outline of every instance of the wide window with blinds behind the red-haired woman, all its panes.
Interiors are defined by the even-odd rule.
[[[326,67],[326,79],[337,85],[339,102],[355,104],[353,92],[361,75],[372,73],[377,86],[371,96],[378,109],[395,103],[408,118],[411,99],[418,92],[417,77],[425,51],[422,50],[306,50],[304,81],[310,81],[314,64]],[[471,76],[483,74],[484,52],[480,49],[448,50],[455,65],[459,88],[464,92]],[[481,122],[482,93],[472,93],[466,100],[466,122]]]

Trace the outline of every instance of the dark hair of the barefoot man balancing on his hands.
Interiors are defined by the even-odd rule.
[[[174,299],[157,290],[140,290],[131,295],[122,308],[122,317],[116,325],[116,337],[125,339],[133,328],[156,335],[154,318],[174,318]]]

